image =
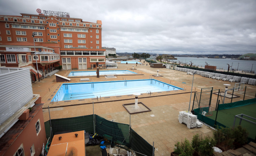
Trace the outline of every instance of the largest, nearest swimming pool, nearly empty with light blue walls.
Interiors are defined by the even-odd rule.
[[[155,79],[62,84],[52,101],[181,90]]]

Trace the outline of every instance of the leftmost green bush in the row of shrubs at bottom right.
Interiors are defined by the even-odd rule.
[[[192,156],[194,153],[194,149],[187,138],[185,138],[184,142],[177,142],[174,146],[174,153],[179,154],[179,156]]]

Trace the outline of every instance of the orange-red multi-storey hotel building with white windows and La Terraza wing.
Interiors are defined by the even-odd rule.
[[[36,59],[39,77],[59,65],[63,70],[106,68],[101,25],[99,20],[84,22],[41,10],[39,14],[0,15],[1,66],[30,68],[33,81],[37,78]]]

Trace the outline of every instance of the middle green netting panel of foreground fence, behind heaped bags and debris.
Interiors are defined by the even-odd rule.
[[[106,120],[96,115],[96,132],[99,136],[113,140],[121,144],[124,138],[129,134],[129,125]],[[125,138],[122,145],[129,147],[129,135]]]

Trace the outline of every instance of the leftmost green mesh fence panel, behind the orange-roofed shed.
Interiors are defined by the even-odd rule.
[[[72,130],[80,131],[85,130],[86,132],[93,132],[93,115],[63,118],[63,119],[52,119],[52,134],[55,132]],[[45,122],[46,137],[50,137],[50,121]]]

